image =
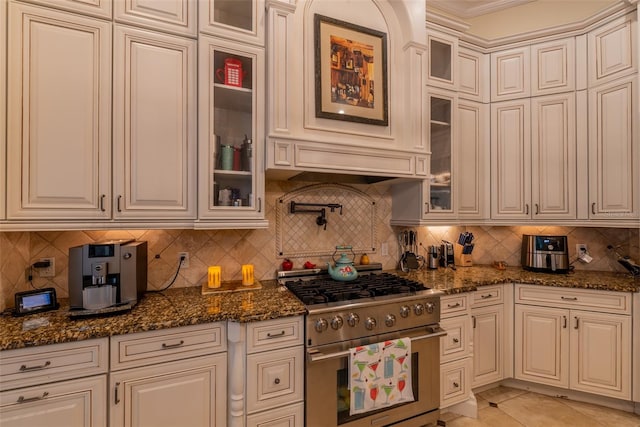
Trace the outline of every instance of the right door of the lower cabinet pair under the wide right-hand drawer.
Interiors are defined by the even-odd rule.
[[[571,311],[571,388],[631,399],[631,317]]]

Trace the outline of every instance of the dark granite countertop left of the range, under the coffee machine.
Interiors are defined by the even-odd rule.
[[[262,289],[202,295],[200,287],[147,292],[131,311],[110,316],[71,319],[69,305],[60,299],[55,311],[22,317],[0,317],[0,350],[80,341],[112,335],[196,325],[217,321],[253,322],[305,314],[304,305],[275,280]],[[46,319],[48,324],[23,330],[24,322]],[[28,324],[28,323],[27,323]]]

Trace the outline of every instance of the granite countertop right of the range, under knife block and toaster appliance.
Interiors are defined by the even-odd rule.
[[[520,267],[498,270],[493,266],[438,268],[402,273],[420,281],[425,286],[440,289],[445,294],[475,291],[480,286],[500,283],[524,283],[540,286],[554,286],[602,291],[640,292],[640,280],[630,274],[606,271],[578,270],[567,274],[537,273]]]

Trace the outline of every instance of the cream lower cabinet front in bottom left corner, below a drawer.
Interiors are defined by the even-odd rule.
[[[106,427],[107,376],[61,381],[0,393],[3,427]]]

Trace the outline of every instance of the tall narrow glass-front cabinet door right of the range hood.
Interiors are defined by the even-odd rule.
[[[453,160],[454,94],[429,90],[429,147],[431,151],[427,216],[450,216],[455,211]]]

